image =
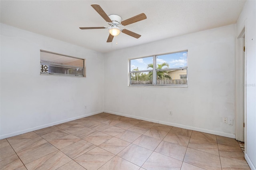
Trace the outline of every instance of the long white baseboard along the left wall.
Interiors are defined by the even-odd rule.
[[[60,123],[74,121],[76,119],[80,119],[80,118],[83,118],[83,117],[88,117],[88,116],[91,116],[91,115],[96,115],[96,114],[102,113],[102,112],[103,111],[98,111],[98,112],[89,113],[89,114],[78,116],[78,117],[73,117],[73,118],[70,118],[70,119],[65,119],[65,120],[62,120],[62,121],[57,121],[57,122],[49,123],[49,124],[46,124],[46,125],[40,125],[38,127],[33,127],[33,128],[28,128],[28,129],[20,130],[20,131],[17,131],[17,132],[3,134],[3,135],[0,135],[0,139],[10,138],[12,136],[16,136],[16,135],[19,135],[19,134],[24,134],[24,133],[27,133],[27,132],[32,132],[34,130],[38,130],[38,129],[41,129],[41,128],[51,127],[51,126],[54,126],[54,125],[58,125]]]

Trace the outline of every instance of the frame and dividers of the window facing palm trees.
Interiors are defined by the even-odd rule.
[[[157,56],[160,55],[166,55],[166,54],[173,54],[173,53],[180,53],[180,52],[186,52],[187,53],[187,66],[186,67],[176,67],[176,68],[167,68],[167,69],[156,69],[156,58]],[[142,59],[142,58],[146,58],[146,57],[153,57],[153,69],[150,70],[139,70],[139,71],[131,71],[131,60],[134,59]],[[171,52],[171,53],[163,53],[163,54],[157,54],[157,55],[149,55],[146,57],[137,57],[137,58],[132,58],[132,59],[128,59],[129,60],[129,66],[128,66],[128,86],[129,87],[136,87],[136,86],[143,86],[143,87],[188,87],[188,49],[186,50],[182,50],[182,51],[175,51],[175,52]],[[166,84],[166,85],[159,85],[157,84],[157,79],[156,79],[156,75],[158,71],[170,71],[170,70],[184,70],[186,69],[186,73],[187,73],[187,83],[186,84]],[[153,76],[152,76],[152,84],[131,84],[131,74],[132,73],[143,73],[143,72],[152,72]],[[184,79],[182,79],[184,80]]]

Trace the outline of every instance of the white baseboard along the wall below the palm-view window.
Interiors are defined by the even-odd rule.
[[[177,123],[170,123],[170,122],[159,121],[159,120],[155,120],[155,119],[148,119],[148,118],[144,118],[144,117],[126,115],[126,114],[123,114],[123,113],[116,113],[116,112],[112,112],[112,111],[104,111],[104,112],[105,113],[111,113],[111,114],[114,114],[114,115],[131,117],[131,118],[134,118],[134,119],[140,119],[140,120],[143,120],[143,121],[150,121],[150,122],[154,122],[154,123],[160,123],[160,124],[163,124],[163,125],[169,125],[169,126],[173,126],[173,127],[186,128],[186,129],[189,129],[189,130],[196,130],[198,132],[216,134],[216,135],[224,136],[224,137],[228,137],[228,138],[235,138],[236,137],[235,134],[219,132],[219,131],[214,131],[214,130],[208,130],[208,129],[204,129],[204,128],[190,127],[190,126],[186,126],[186,125],[180,125],[180,124],[177,124]]]

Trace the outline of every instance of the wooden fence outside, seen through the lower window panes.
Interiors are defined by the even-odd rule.
[[[156,82],[158,85],[186,85],[187,79],[176,79],[176,80],[157,80]],[[140,81],[140,80],[131,80],[131,84],[138,85],[138,84],[152,84],[151,80],[147,81]]]

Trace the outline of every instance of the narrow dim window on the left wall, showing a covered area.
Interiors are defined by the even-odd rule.
[[[40,50],[40,74],[86,77],[85,59]]]

